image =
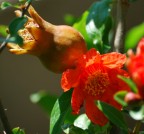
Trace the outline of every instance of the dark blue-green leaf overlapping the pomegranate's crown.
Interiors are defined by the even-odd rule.
[[[9,32],[11,36],[17,35],[18,30],[22,29],[26,22],[27,22],[26,17],[15,18],[9,25]]]

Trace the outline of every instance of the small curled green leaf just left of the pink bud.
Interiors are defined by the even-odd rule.
[[[119,91],[114,95],[114,99],[122,106],[127,106],[127,103],[124,101],[125,95],[127,93],[128,93],[127,91]]]

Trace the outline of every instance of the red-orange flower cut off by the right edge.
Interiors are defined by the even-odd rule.
[[[127,60],[127,68],[131,78],[139,89],[139,94],[144,99],[144,38],[142,38],[137,46],[136,55],[132,50],[128,51],[129,58]]]

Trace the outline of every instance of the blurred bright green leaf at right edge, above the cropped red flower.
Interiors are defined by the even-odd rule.
[[[144,36],[144,23],[132,28],[126,35],[125,52],[137,46],[139,40]]]

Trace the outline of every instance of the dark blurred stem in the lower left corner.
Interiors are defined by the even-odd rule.
[[[9,121],[6,116],[1,100],[0,100],[0,119],[2,121],[6,134],[12,134],[11,127],[10,127],[10,124],[9,124]]]

